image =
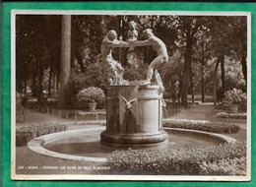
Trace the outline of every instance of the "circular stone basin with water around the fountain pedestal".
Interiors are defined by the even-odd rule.
[[[105,127],[53,133],[33,139],[28,146],[45,156],[104,162],[114,149],[100,145],[99,135],[103,130]],[[235,141],[224,135],[195,130],[164,128],[164,131],[168,133],[168,150],[206,148]]]

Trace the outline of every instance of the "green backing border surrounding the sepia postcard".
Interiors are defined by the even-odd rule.
[[[165,182],[165,181],[12,181],[11,180],[11,10],[155,10],[155,11],[242,11],[251,12],[252,60],[251,72],[256,70],[253,60],[256,59],[256,3],[215,3],[215,2],[3,2],[1,4],[1,186],[256,186],[255,163],[255,125],[256,118],[251,120],[252,145],[252,180],[250,182]],[[255,94],[256,77],[251,77],[251,92]],[[252,96],[251,103],[255,97]],[[252,104],[251,116],[256,114]]]

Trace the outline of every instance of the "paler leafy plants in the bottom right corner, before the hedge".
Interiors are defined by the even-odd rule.
[[[224,158],[214,162],[203,161],[200,165],[202,175],[246,175],[246,157]]]

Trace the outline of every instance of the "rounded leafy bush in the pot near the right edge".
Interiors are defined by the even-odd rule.
[[[241,90],[232,89],[224,93],[224,98],[232,104],[240,104],[247,102],[247,94],[242,93]]]

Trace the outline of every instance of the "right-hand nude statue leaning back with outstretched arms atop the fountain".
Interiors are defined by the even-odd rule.
[[[160,68],[161,65],[168,62],[168,54],[167,54],[167,49],[165,44],[162,42],[162,40],[160,40],[159,37],[154,35],[151,29],[147,29],[143,31],[143,34],[147,39],[142,41],[136,41],[132,45],[133,46],[151,45],[153,47],[153,50],[156,50],[158,54],[158,57],[155,58],[149,65],[147,78],[146,78],[146,81],[143,83],[144,85],[149,85],[151,84],[151,79],[153,77],[154,70],[157,70],[158,68]],[[156,71],[156,74],[158,74],[158,71]],[[156,76],[157,82],[160,85],[160,89],[164,91],[164,88],[162,87],[161,81],[158,80],[158,77],[160,76]]]

